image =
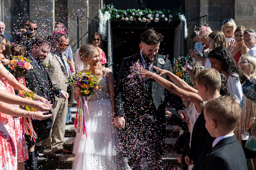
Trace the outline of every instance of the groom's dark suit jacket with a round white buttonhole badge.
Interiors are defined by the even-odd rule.
[[[158,62],[158,58],[162,58],[165,61],[165,63],[160,64]],[[145,79],[142,79],[141,82],[138,79],[137,82],[134,82],[135,84],[127,83],[129,81],[129,78],[127,78],[127,76],[131,74],[130,67],[137,61],[139,61],[140,64],[142,64],[142,57],[140,53],[123,59],[114,93],[115,116],[124,116],[125,114],[128,116],[129,114],[133,114],[133,112],[141,112],[140,114],[145,114],[143,113],[142,109],[143,107],[145,107],[142,104],[144,103],[143,95],[144,92],[146,91]],[[172,72],[172,66],[167,56],[158,54],[154,65],[158,68],[169,70]],[[156,72],[156,70],[153,67],[151,68],[150,71]],[[173,82],[173,80],[170,79],[167,75],[162,75],[162,77]],[[136,90],[133,91],[133,89]],[[173,94],[172,92],[166,90],[155,80],[153,80],[152,82],[152,97],[154,100],[155,109],[157,111],[162,110],[162,113],[159,113],[162,114],[161,118],[163,118],[161,122],[166,121],[164,108],[166,107],[167,103],[171,102],[173,107],[177,111],[183,109],[182,99],[179,96]]]

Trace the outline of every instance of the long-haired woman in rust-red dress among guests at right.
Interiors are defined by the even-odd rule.
[[[227,44],[227,50],[229,50],[230,54],[233,56],[233,59],[238,64],[241,55],[247,54],[249,48],[247,48],[244,44],[244,32],[245,27],[239,26],[234,32],[234,40],[231,40],[230,43]]]

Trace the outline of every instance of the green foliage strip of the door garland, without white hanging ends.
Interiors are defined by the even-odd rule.
[[[155,18],[158,18],[158,22],[162,21],[162,22],[166,22],[166,23],[170,23],[171,21],[180,21],[179,19],[179,15],[184,14],[184,12],[182,11],[182,7],[178,8],[178,9],[174,9],[173,11],[171,11],[170,9],[162,9],[162,10],[151,10],[151,9],[145,9],[145,10],[141,10],[141,9],[127,9],[127,10],[121,10],[121,9],[116,9],[114,8],[113,4],[109,4],[109,5],[103,5],[103,9],[102,9],[102,13],[105,13],[106,11],[108,11],[110,13],[110,21],[126,21],[125,18],[130,18],[132,16],[133,20],[128,20],[126,22],[128,23],[150,23],[150,22],[155,22]],[[134,15],[132,15],[132,13],[134,12]],[[142,12],[142,13],[141,13]],[[158,17],[156,17],[156,14],[159,14]],[[125,15],[126,14],[126,15]],[[142,15],[140,15],[142,14]],[[149,20],[150,17],[148,17],[148,14],[151,14],[151,17],[153,18],[153,20]],[[119,17],[117,17],[119,15]],[[164,16],[162,16],[164,15]],[[169,17],[169,15],[172,15]],[[147,19],[146,21],[142,21],[142,19],[145,18]]]

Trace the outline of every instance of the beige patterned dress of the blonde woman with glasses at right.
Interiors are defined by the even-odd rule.
[[[251,80],[251,82],[254,84],[256,83],[256,77]],[[237,137],[237,140],[239,143],[242,144],[241,140],[241,134],[244,134],[247,131],[247,127],[249,124],[253,122],[253,116],[256,115],[256,103],[252,102],[252,100],[246,98],[245,95],[243,95],[243,107],[241,116],[237,125],[237,128],[235,130],[235,135]]]

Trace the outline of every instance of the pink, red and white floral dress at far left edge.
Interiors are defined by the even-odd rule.
[[[14,94],[14,89],[0,80],[0,89]],[[3,170],[16,170],[18,162],[28,159],[25,139],[19,118],[0,112],[0,167]]]

